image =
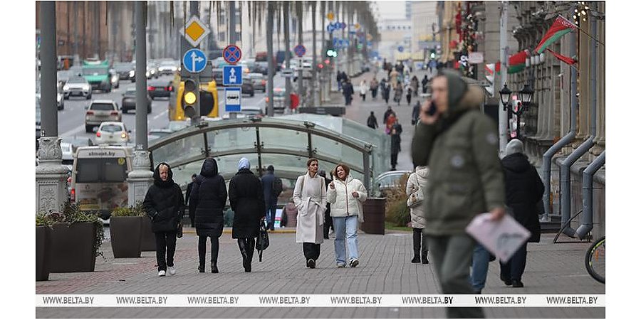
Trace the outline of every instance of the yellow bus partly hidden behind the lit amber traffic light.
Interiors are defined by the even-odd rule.
[[[184,81],[180,78],[180,74],[174,75],[174,90],[170,96],[169,103],[169,120],[170,121],[184,121],[189,119],[184,114],[182,109],[182,92],[184,92]],[[218,90],[216,88],[216,81],[200,83],[200,114],[205,117],[215,118],[218,117]]]

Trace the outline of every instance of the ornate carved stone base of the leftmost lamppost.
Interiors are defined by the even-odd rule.
[[[67,200],[66,181],[68,169],[62,165],[62,138],[42,137],[39,139],[36,166],[36,213],[61,210]]]

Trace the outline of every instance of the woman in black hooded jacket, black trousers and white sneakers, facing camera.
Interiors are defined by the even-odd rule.
[[[184,213],[182,190],[172,179],[174,174],[169,164],[161,162],[154,170],[154,183],[147,189],[142,206],[152,220],[152,232],[156,236],[156,263],[158,276],[176,274],[174,252],[178,223]]]

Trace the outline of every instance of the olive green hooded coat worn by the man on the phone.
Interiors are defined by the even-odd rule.
[[[496,123],[479,110],[483,92],[459,75],[444,76],[449,108],[434,124],[417,124],[412,161],[430,171],[423,232],[462,235],[474,216],[504,207],[505,185]]]

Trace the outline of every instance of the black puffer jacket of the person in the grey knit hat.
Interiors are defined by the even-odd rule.
[[[524,154],[511,154],[501,160],[505,172],[506,205],[514,210],[514,218],[531,233],[529,242],[541,240],[536,203],[541,201],[545,186],[536,169]]]

